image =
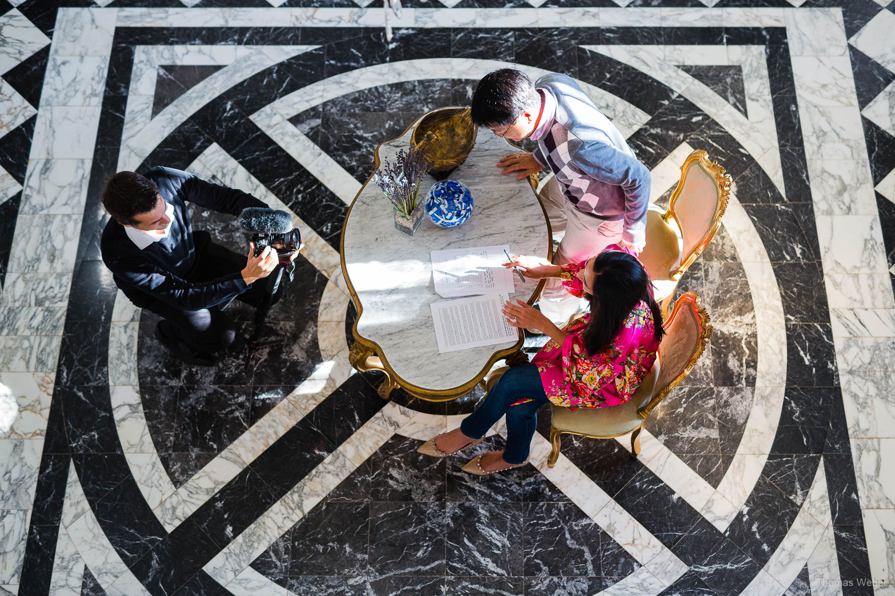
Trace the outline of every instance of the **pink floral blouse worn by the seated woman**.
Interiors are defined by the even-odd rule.
[[[606,250],[633,254],[615,244]],[[562,265],[563,286],[579,298],[584,294],[584,286],[576,273],[586,263]],[[581,337],[589,321],[590,315],[584,315],[567,324],[563,331],[568,336],[562,345],[550,340],[532,360],[538,365],[550,403],[557,406],[575,409],[623,404],[631,399],[655,362],[659,343],[655,339],[652,311],[646,302],[641,301],[627,315],[621,332],[609,348],[593,356],[584,349]]]

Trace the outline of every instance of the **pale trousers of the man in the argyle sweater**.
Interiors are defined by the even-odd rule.
[[[582,213],[563,194],[556,176],[547,181],[538,197],[547,211],[554,236],[564,234],[553,255],[554,264],[580,263],[621,241],[624,220],[609,222]],[[569,294],[556,278],[547,280],[540,304],[541,312],[560,327],[583,306],[581,299]]]

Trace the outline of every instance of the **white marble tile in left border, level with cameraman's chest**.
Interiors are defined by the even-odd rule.
[[[20,214],[8,271],[69,273],[81,235],[81,215]],[[23,238],[24,237],[24,238]]]

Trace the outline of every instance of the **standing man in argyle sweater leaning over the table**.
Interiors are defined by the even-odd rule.
[[[520,180],[544,167],[553,172],[539,197],[554,234],[564,232],[555,264],[580,263],[610,244],[644,248],[650,171],[575,80],[551,73],[532,83],[516,69],[490,72],[475,89],[472,116],[499,137],[538,142],[533,153],[498,165]],[[548,284],[542,298],[554,321],[577,306],[561,283]]]

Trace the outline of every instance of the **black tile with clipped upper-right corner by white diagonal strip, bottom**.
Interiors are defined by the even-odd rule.
[[[603,531],[572,503],[524,503],[524,575],[601,575]]]

